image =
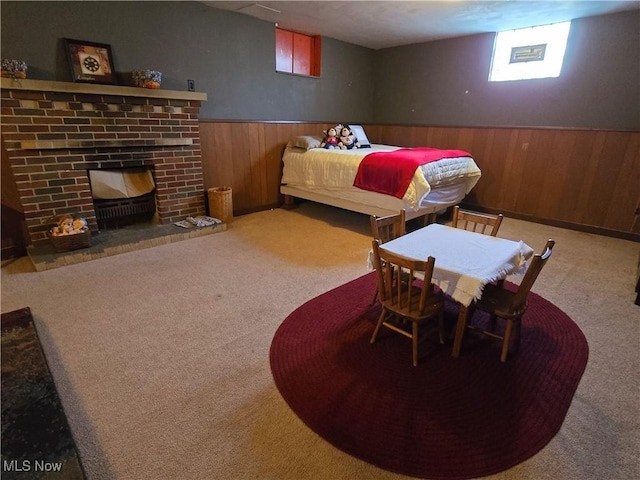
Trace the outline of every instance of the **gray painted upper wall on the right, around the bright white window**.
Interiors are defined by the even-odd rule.
[[[640,130],[640,11],[572,22],[558,78],[489,82],[493,34],[376,52],[374,121]]]

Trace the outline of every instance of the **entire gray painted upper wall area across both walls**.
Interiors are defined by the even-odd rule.
[[[2,1],[2,58],[69,81],[63,37],[208,94],[201,118],[640,130],[640,11],[576,20],[561,77],[487,81],[493,35],[378,51],[324,37],[319,79],[275,72],[268,22],[197,2]]]

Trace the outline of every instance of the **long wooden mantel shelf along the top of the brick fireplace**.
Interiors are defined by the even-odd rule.
[[[30,80],[2,78],[2,89],[29,90],[35,92],[86,93],[94,95],[118,95],[123,97],[166,98],[172,100],[207,100],[204,92],[183,92],[139,87],[121,87],[95,83],[54,82],[49,80]]]

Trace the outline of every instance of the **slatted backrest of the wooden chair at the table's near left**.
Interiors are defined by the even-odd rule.
[[[373,240],[372,246],[378,275],[378,295],[382,304],[393,311],[402,310],[403,315],[420,316],[433,292],[431,276],[435,258],[421,261],[396,255],[381,247],[379,240]],[[416,273],[424,276],[424,279],[420,278],[422,285],[414,284]]]

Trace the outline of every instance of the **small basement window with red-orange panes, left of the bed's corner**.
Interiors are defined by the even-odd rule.
[[[276,71],[320,76],[320,35],[276,28]]]

